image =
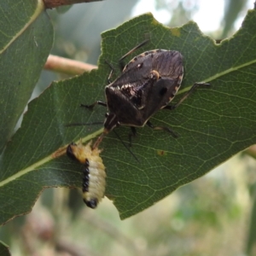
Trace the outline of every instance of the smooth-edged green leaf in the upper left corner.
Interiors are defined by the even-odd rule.
[[[0,153],[24,111],[53,42],[42,1],[0,3]]]

